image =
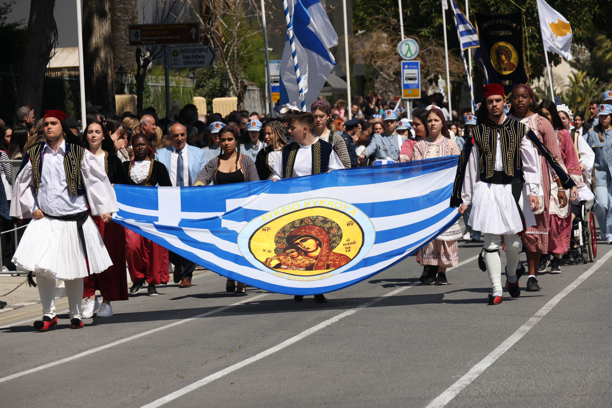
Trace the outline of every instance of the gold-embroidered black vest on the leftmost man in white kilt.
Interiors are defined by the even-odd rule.
[[[43,149],[45,142],[39,142],[32,145],[23,155],[21,168],[32,162],[32,176],[34,178],[34,193],[38,194],[40,188],[40,172],[42,171]],[[64,171],[66,174],[66,182],[68,190],[75,196],[80,196],[85,193],[83,188],[83,179],[81,177],[81,161],[85,154],[85,148],[78,144],[69,143],[66,141],[66,151],[64,154]],[[21,170],[21,169],[20,169]]]

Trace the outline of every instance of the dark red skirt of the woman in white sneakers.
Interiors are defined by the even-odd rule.
[[[104,272],[92,273],[83,278],[83,298],[100,291],[104,300],[127,300],[127,273],[125,273],[124,228],[111,221],[106,224],[100,217],[91,217],[100,230],[106,251],[113,265]]]

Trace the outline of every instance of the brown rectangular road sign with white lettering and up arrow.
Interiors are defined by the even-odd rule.
[[[198,23],[130,24],[130,45],[199,44]]]

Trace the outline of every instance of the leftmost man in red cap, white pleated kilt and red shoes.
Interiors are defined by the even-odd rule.
[[[17,269],[36,274],[43,317],[34,328],[40,331],[58,324],[57,280],[64,281],[70,327],[84,327],[83,278],[113,265],[88,206],[108,223],[118,211],[117,198],[104,167],[73,136],[65,117],[59,110],[45,111],[47,141],[26,150],[10,202],[12,217],[34,218],[12,261]]]

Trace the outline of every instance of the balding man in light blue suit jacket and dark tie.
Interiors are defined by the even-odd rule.
[[[206,165],[206,154],[204,150],[187,144],[187,129],[183,125],[172,125],[168,133],[172,146],[157,150],[155,160],[166,166],[174,187],[193,185]],[[181,282],[179,287],[190,287],[196,264],[173,252],[170,252],[170,262],[174,265],[174,283]]]

